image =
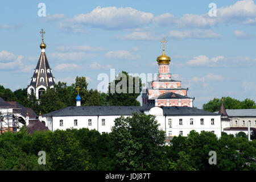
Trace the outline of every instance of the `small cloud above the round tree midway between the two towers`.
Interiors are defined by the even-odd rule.
[[[140,59],[141,56],[133,55],[129,51],[121,50],[121,51],[109,51],[105,54],[105,57],[108,59],[123,59],[123,60],[134,60]]]

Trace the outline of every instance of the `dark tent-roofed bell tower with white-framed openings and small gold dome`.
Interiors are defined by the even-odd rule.
[[[28,85],[27,93],[34,93],[36,98],[40,98],[44,92],[46,92],[47,87],[53,88],[55,85],[55,79],[52,75],[52,69],[49,67],[49,63],[46,57],[46,44],[44,44],[44,30],[40,31],[42,34],[42,43],[40,44],[41,55],[38,60],[38,64],[34,69],[33,76]]]

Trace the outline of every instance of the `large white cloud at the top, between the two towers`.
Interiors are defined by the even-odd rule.
[[[61,28],[81,29],[81,25],[108,30],[136,28],[150,23],[154,15],[132,7],[96,7],[90,13],[76,15],[60,23]],[[76,27],[79,26],[79,27]]]

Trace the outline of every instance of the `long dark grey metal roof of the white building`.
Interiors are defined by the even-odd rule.
[[[97,116],[97,115],[131,115],[150,110],[154,106],[69,106],[51,113],[43,114],[43,117],[65,116]],[[220,115],[194,107],[161,107],[165,115]]]

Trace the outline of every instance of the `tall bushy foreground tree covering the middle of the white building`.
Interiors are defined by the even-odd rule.
[[[165,133],[153,115],[133,113],[115,119],[110,138],[117,163],[125,170],[159,170],[163,163]]]

